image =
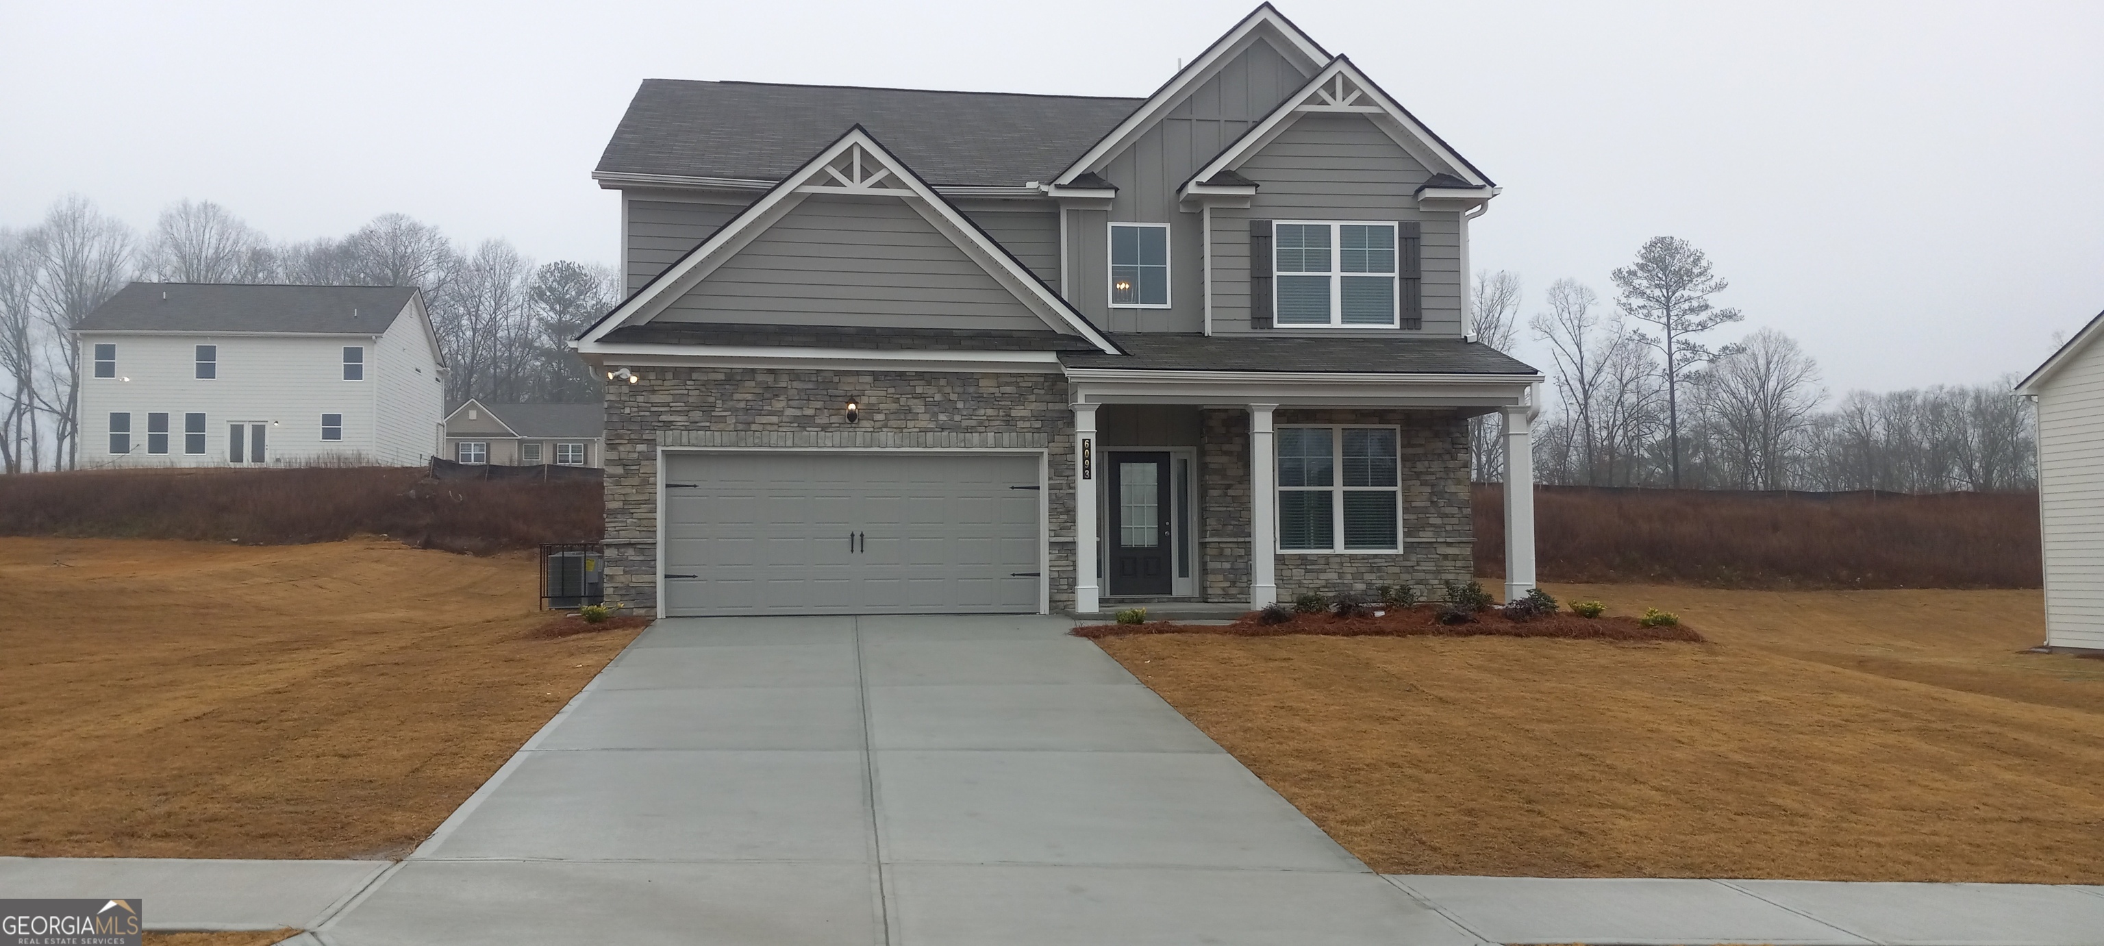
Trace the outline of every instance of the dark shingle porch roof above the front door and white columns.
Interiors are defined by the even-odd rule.
[[[1067,368],[1164,372],[1536,374],[1490,345],[1460,338],[1203,336],[1113,332],[1128,355],[1060,353]]]

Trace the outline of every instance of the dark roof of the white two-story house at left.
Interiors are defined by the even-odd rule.
[[[414,296],[406,286],[229,286],[135,282],[95,307],[82,332],[381,334]]]

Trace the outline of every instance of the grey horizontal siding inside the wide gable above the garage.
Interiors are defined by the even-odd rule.
[[[808,198],[656,322],[877,328],[1046,324],[894,198]]]

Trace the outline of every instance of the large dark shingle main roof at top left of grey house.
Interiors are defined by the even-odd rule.
[[[1050,181],[1145,99],[644,80],[602,172],[781,181],[861,124],[932,185]]]

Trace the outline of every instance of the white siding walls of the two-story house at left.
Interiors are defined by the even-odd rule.
[[[396,326],[414,322],[408,313]],[[419,328],[421,332],[421,328]],[[118,376],[95,378],[95,345],[118,347]],[[217,378],[196,376],[196,347],[217,345]],[[366,349],[366,381],[343,381],[343,347]],[[442,385],[414,395],[412,381],[389,381],[393,368],[387,334],[82,334],[80,465],[82,467],[221,467],[227,462],[227,425],[269,425],[271,465],[353,460],[421,465],[438,446],[444,416]],[[425,345],[425,351],[429,347]],[[436,378],[423,355],[423,372]],[[130,381],[124,381],[130,378]],[[135,450],[109,454],[109,414],[130,414]],[[168,452],[147,454],[147,414],[168,414]],[[204,414],[204,452],[183,452],[183,414]],[[343,439],[322,439],[322,414],[343,414]]]

